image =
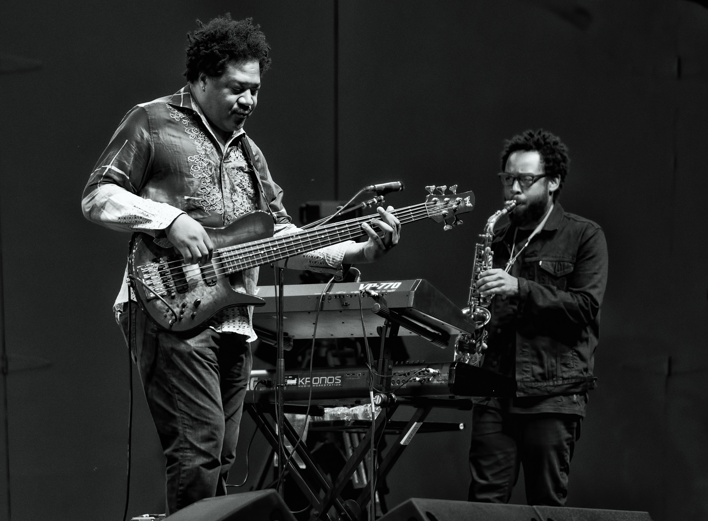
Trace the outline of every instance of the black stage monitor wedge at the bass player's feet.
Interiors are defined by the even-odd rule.
[[[197,501],[165,517],[170,521],[295,521],[274,490],[244,492]]]

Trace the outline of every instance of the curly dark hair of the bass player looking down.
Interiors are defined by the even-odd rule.
[[[261,74],[268,70],[270,45],[260,25],[253,25],[253,18],[232,20],[231,14],[212,18],[207,23],[197,21],[199,29],[187,33],[187,81],[196,81],[203,72],[210,78],[224,74],[231,60],[257,59]]]

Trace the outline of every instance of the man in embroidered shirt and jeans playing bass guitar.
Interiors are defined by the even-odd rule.
[[[243,129],[270,65],[270,46],[250,18],[234,21],[227,14],[199,25],[189,35],[188,84],[127,113],[91,174],[82,206],[94,223],[147,233],[161,247],[175,247],[184,264],[204,265],[215,247],[203,226],[228,226],[260,210],[278,235],[297,228],[263,153]],[[363,223],[367,242],[299,254],[286,267],[341,275],[342,264],[382,257],[400,234],[389,211],[379,208],[380,218],[372,221],[382,237]],[[230,281],[253,294],[258,268]],[[148,320],[131,295],[124,280],[115,311],[166,456],[167,509],[173,513],[226,493],[256,334],[246,306],[227,308],[189,332],[169,332]]]

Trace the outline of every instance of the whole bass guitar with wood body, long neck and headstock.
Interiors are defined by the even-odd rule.
[[[445,230],[461,224],[459,213],[472,211],[474,194],[456,194],[457,185],[426,187],[426,201],[399,208],[392,213],[401,224],[423,218],[445,222]],[[438,193],[435,193],[438,192]],[[205,230],[214,243],[212,261],[185,265],[179,252],[165,239],[155,240],[139,233],[132,242],[128,277],[136,298],[150,320],[171,332],[185,332],[200,327],[217,312],[239,305],[261,306],[265,301],[255,295],[235,291],[229,276],[245,269],[269,264],[297,254],[318,250],[344,240],[365,235],[362,223],[371,223],[378,215],[341,221],[291,235],[273,237],[273,218],[264,211],[252,211],[229,226]],[[166,244],[167,242],[167,244]]]

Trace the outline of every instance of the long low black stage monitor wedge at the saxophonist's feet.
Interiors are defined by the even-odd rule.
[[[379,521],[651,521],[649,513],[411,498]]]

